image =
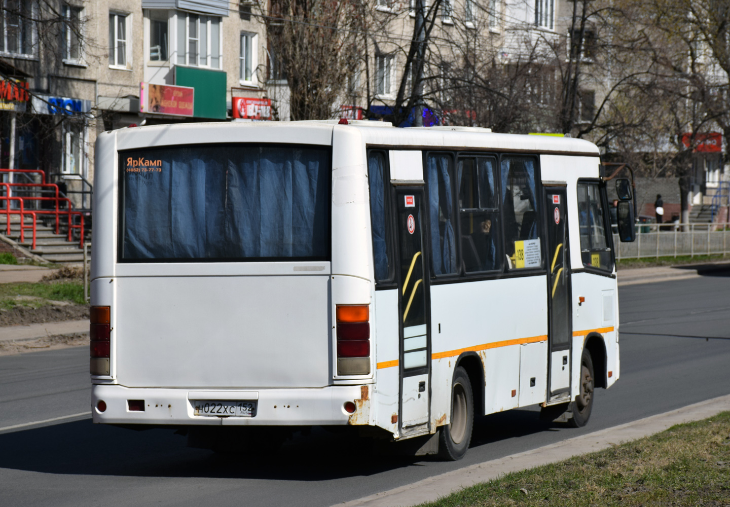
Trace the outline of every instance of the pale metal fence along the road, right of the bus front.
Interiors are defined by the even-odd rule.
[[[730,224],[637,224],[634,243],[613,235],[616,259],[726,255],[730,253]]]

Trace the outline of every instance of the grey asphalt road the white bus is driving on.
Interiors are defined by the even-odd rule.
[[[730,271],[620,289],[621,379],[599,389],[580,430],[537,410],[480,418],[460,462],[372,456],[347,435],[298,435],[267,459],[188,449],[172,430],[135,432],[64,420],[0,431],[7,506],[328,507],[730,394]],[[707,339],[710,338],[710,339]],[[0,428],[88,411],[88,351],[0,357]]]

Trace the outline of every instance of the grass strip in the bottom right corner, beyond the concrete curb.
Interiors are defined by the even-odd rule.
[[[421,507],[700,505],[730,505],[730,412],[509,473]]]

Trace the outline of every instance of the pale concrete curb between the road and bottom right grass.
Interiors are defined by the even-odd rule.
[[[477,463],[358,500],[338,503],[332,507],[395,507],[433,502],[465,487],[497,479],[506,473],[567,460],[588,452],[601,451],[618,443],[664,431],[675,424],[707,419],[707,417],[727,410],[730,410],[730,394],[588,433],[588,435],[568,438],[530,451]]]

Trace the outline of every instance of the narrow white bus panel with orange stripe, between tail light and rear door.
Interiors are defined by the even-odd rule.
[[[394,435],[398,433],[398,291],[375,291],[375,424]]]

